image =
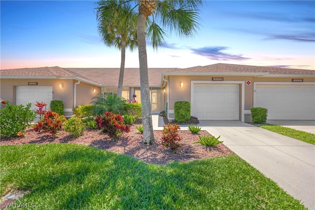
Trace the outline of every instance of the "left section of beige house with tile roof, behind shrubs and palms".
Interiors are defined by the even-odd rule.
[[[153,112],[165,107],[164,91],[160,87],[161,73],[174,68],[150,68],[149,84]],[[39,67],[0,70],[0,96],[11,104],[49,103],[62,100],[65,115],[72,115],[72,109],[90,104],[99,93],[117,93],[119,68],[61,68]],[[140,76],[138,68],[126,68],[123,97],[132,99],[136,94],[140,100]]]

